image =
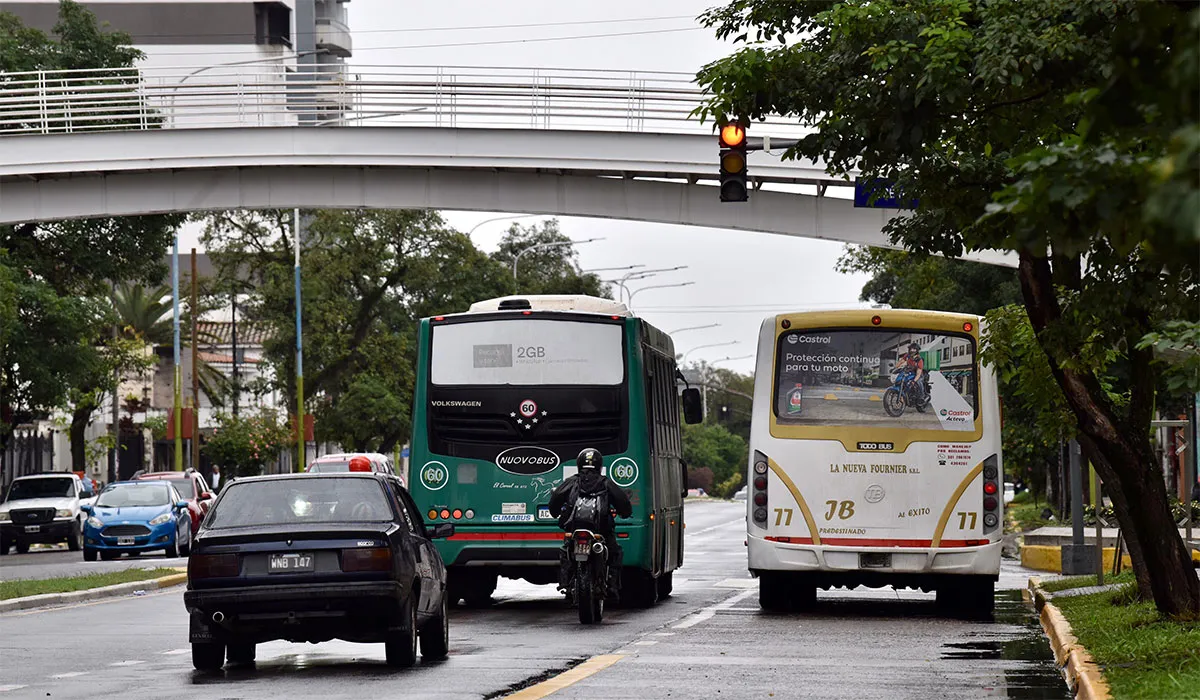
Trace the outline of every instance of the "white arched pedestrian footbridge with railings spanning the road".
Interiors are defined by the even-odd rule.
[[[282,66],[0,73],[0,223],[232,208],[590,216],[887,245],[821,163],[719,202],[685,73]],[[767,121],[752,136],[796,138]],[[983,251],[974,259],[1009,264]]]

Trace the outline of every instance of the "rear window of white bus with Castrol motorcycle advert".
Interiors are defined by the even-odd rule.
[[[976,343],[928,330],[799,329],[776,348],[781,425],[974,430]]]

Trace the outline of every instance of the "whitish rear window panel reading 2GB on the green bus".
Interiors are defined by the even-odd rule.
[[[522,318],[433,328],[430,379],[439,387],[594,385],[625,379],[622,327]]]

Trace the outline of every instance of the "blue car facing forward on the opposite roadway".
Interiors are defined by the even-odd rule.
[[[113,560],[121,552],[166,550],[168,557],[187,556],[192,519],[187,501],[169,481],[118,481],[96,503],[84,505],[83,558]]]

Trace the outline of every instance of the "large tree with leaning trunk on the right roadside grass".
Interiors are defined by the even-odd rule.
[[[910,250],[1016,253],[1033,335],[1108,486],[1140,591],[1163,614],[1200,617],[1151,449],[1159,369],[1141,345],[1200,309],[1200,11],[733,0],[703,22],[758,43],[700,71],[702,115],[794,116],[811,132],[790,155],[919,203],[886,226]]]

